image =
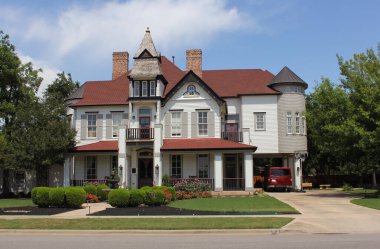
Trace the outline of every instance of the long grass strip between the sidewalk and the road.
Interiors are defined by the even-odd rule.
[[[70,230],[189,230],[189,229],[273,229],[292,218],[110,218],[110,219],[14,219],[0,220],[0,229]]]

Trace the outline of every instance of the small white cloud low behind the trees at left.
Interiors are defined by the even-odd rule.
[[[35,60],[30,56],[23,55],[21,53],[19,53],[18,56],[22,63],[31,62],[33,64],[33,68],[42,69],[42,73],[40,74],[40,76],[43,78],[43,81],[41,82],[41,85],[38,88],[38,92],[37,92],[37,96],[42,97],[47,86],[51,84],[57,78],[57,73],[59,73],[60,71],[56,68],[52,68],[48,66],[45,62]]]

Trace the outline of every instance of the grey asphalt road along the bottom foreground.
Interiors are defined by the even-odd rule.
[[[59,233],[59,232],[58,232]],[[375,234],[275,234],[243,233],[0,233],[1,249],[245,249],[245,248],[379,248],[380,236]]]

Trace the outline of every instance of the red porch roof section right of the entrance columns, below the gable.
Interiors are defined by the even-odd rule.
[[[164,139],[161,151],[250,150],[257,147],[220,138]]]

